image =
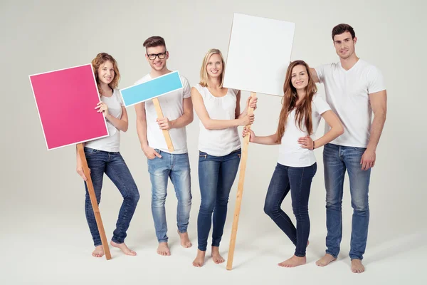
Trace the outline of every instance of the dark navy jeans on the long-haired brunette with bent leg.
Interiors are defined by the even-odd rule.
[[[307,167],[289,167],[276,165],[265,197],[264,212],[280,227],[295,244],[295,255],[305,257],[308,236],[310,235],[310,217],[308,217],[308,198],[312,178],[317,171],[317,163]],[[280,205],[290,190],[292,210],[297,219],[297,227],[280,209]]]

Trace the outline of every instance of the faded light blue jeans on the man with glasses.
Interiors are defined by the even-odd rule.
[[[152,214],[158,242],[167,242],[167,222],[164,202],[167,196],[167,180],[170,177],[178,199],[176,223],[181,233],[187,231],[191,209],[191,177],[189,155],[171,154],[157,150],[161,158],[148,160],[148,172],[152,182]]]

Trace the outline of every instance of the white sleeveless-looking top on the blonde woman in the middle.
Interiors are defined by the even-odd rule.
[[[236,119],[236,104],[238,90],[228,88],[223,97],[215,97],[208,88],[197,84],[196,88],[212,120]],[[199,150],[209,155],[224,156],[241,147],[237,127],[222,130],[206,130],[203,123],[199,123]]]

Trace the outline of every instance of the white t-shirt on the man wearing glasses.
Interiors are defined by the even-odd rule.
[[[181,77],[181,82],[183,89],[176,90],[166,95],[157,97],[159,99],[160,107],[165,118],[169,120],[176,120],[177,118],[184,115],[184,99],[191,97],[191,90],[189,81],[184,77]],[[144,83],[150,81],[153,78],[147,74],[143,78],[139,79],[135,83]],[[152,100],[145,101],[145,115],[147,118],[147,140],[149,147],[157,148],[163,152],[169,152],[167,149],[166,140],[164,139],[163,131],[159,128],[157,124],[157,113],[156,108]],[[182,154],[188,152],[186,145],[186,130],[183,128],[173,128],[169,130],[169,135],[171,136],[172,144],[174,145],[174,154]],[[170,152],[169,152],[170,153]]]

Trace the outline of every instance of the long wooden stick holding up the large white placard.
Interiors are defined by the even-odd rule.
[[[256,93],[251,92],[251,98],[256,98]],[[248,115],[253,114],[253,108],[248,108]],[[246,125],[246,129],[251,129],[251,125]],[[230,248],[228,249],[228,259],[227,259],[227,270],[233,268],[233,257],[234,257],[234,248],[236,247],[236,236],[237,236],[237,227],[238,227],[238,217],[240,214],[242,196],[243,196],[243,184],[245,183],[245,172],[246,172],[246,162],[248,160],[248,146],[249,146],[249,134],[243,138],[243,150],[242,150],[242,159],[241,159],[241,170],[238,177],[238,187],[237,187],[237,198],[236,198],[236,207],[234,208],[234,219],[233,219],[233,228],[231,229],[231,238],[230,238]]]

